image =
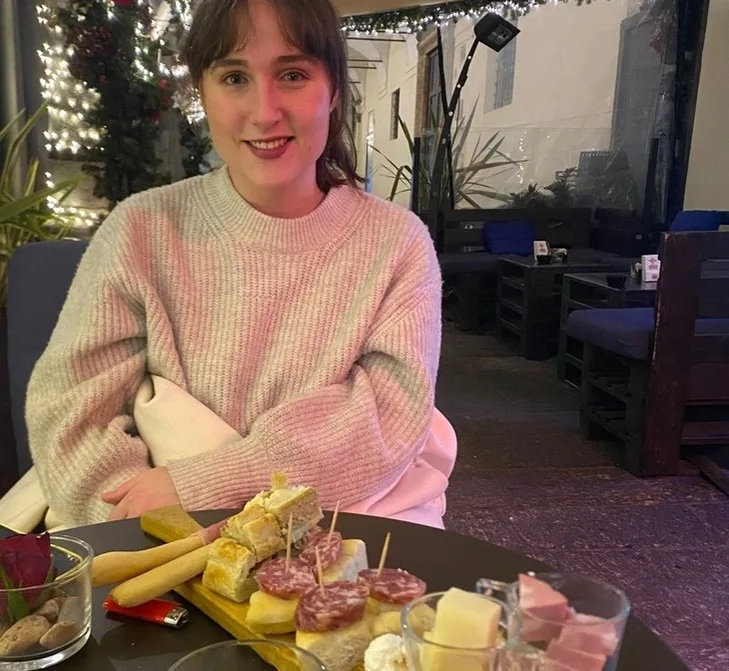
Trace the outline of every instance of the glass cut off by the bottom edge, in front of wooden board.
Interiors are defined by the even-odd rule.
[[[284,667],[282,662],[288,664]],[[224,641],[215,643],[183,657],[173,664],[169,671],[269,671],[272,667],[266,660],[275,660],[278,668],[300,671],[327,671],[314,655],[292,643],[260,639],[252,641]]]

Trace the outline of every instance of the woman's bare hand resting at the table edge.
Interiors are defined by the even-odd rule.
[[[109,521],[139,517],[142,513],[180,503],[175,483],[166,468],[152,468],[101,495],[114,506]]]

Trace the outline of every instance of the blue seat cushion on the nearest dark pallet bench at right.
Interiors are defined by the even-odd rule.
[[[629,359],[650,356],[655,322],[653,308],[577,310],[567,319],[567,334]],[[697,335],[729,334],[729,319],[697,319]]]

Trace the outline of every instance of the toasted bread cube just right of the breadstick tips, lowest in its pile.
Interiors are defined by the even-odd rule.
[[[218,538],[210,547],[210,555],[203,572],[203,585],[237,603],[251,595],[249,572],[256,556],[248,548],[231,538]],[[253,587],[255,589],[255,587]]]

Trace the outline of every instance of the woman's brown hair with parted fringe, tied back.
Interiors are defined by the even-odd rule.
[[[357,174],[352,131],[347,124],[349,86],[347,48],[339,16],[330,0],[266,0],[278,16],[284,38],[307,56],[324,64],[337,96],[329,117],[329,137],[316,162],[316,181],[323,192],[333,186],[357,186],[364,180]],[[195,10],[190,33],[182,49],[182,60],[198,90],[203,73],[215,61],[225,58],[250,33],[249,0],[201,0]],[[237,20],[236,20],[237,19]],[[241,25],[244,26],[241,34]]]

